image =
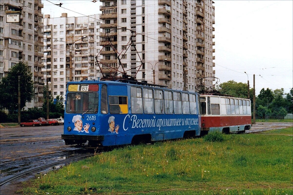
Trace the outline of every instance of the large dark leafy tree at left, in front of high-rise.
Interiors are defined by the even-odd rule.
[[[9,69],[8,75],[0,81],[0,108],[9,111],[18,109],[18,76],[20,76],[20,104],[25,107],[34,97],[33,73],[28,65],[19,62]]]

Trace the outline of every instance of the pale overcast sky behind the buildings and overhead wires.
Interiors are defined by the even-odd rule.
[[[63,8],[49,1],[63,3]],[[61,13],[68,17],[100,13],[99,1],[49,1],[42,0],[42,12],[51,18],[60,17]],[[256,95],[262,88],[284,88],[285,93],[289,92],[293,87],[293,1],[213,1],[214,70],[220,83],[247,83],[248,75],[252,88],[255,74]]]

